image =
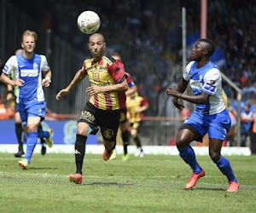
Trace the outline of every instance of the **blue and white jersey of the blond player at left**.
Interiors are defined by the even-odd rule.
[[[17,90],[17,103],[26,104],[29,101],[44,101],[42,87],[42,72],[49,71],[44,55],[34,54],[32,59],[26,59],[22,54],[13,55],[3,67],[3,73],[9,75],[14,72],[14,80],[24,80],[22,87]]]

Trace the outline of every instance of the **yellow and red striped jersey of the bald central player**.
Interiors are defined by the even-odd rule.
[[[127,77],[123,63],[109,55],[103,55],[99,61],[84,60],[82,71],[88,75],[90,85],[102,87],[121,83]],[[102,92],[90,96],[89,101],[99,109],[116,110],[125,105],[125,93]]]

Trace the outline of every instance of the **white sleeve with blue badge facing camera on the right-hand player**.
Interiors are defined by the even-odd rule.
[[[205,74],[201,90],[207,94],[214,95],[218,87],[221,87],[221,75],[218,69],[213,68]]]

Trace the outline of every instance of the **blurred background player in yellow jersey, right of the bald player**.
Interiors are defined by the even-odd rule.
[[[148,101],[137,93],[133,93],[127,96],[126,106],[129,114],[128,120],[131,125],[131,136],[137,145],[137,151],[134,156],[143,158],[143,147],[138,132],[143,121],[143,112],[148,109]]]

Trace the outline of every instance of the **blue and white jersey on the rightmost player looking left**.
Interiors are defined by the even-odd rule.
[[[196,111],[210,115],[224,111],[222,78],[218,66],[215,66],[212,61],[199,69],[196,66],[197,62],[191,61],[183,72],[183,78],[189,81],[193,95],[199,95],[201,91],[210,94],[206,104],[196,104]]]

